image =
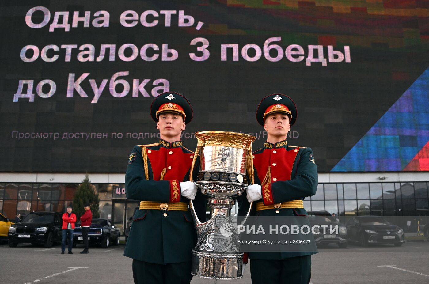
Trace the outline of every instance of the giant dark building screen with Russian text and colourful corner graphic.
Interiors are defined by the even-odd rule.
[[[119,4],[120,3],[120,4]],[[266,132],[293,98],[290,145],[320,172],[429,170],[427,1],[2,1],[0,171],[124,172],[157,142],[152,100],[186,96],[182,133]]]

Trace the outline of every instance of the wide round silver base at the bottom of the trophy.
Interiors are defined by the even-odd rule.
[[[192,250],[191,274],[210,279],[242,278],[243,253],[217,254]]]

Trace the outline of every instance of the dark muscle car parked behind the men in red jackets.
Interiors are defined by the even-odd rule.
[[[91,245],[100,244],[102,248],[109,248],[109,245],[119,245],[121,232],[115,229],[109,220],[93,218],[89,227],[89,243]],[[73,246],[83,243],[82,229],[80,223],[76,223],[73,231]]]

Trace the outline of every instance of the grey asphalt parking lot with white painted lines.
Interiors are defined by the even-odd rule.
[[[60,254],[58,245],[52,248],[30,244],[20,244],[17,248],[0,245],[0,283],[133,283],[132,260],[123,256],[123,245],[107,249],[92,247],[89,254],[79,254],[82,249],[82,245],[78,245],[70,255]],[[248,284],[251,283],[250,265],[244,277],[238,280],[194,277],[191,283]],[[407,242],[402,247],[320,247],[319,253],[312,257],[311,275],[313,284],[428,284],[429,242]]]

